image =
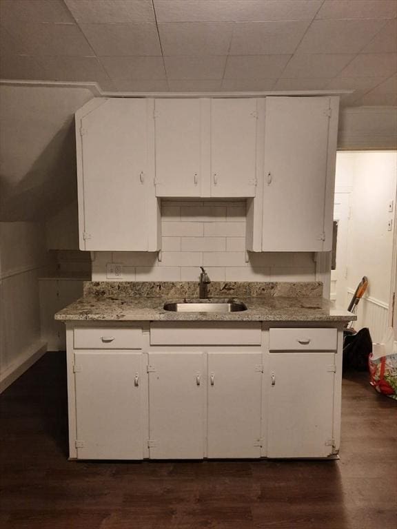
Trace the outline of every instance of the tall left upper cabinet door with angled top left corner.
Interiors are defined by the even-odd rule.
[[[152,189],[154,177],[147,174],[148,106],[150,101],[145,99],[108,99],[81,118],[81,249],[148,248],[148,231],[156,229],[154,220],[150,221],[152,226],[147,218],[146,194],[149,187]]]

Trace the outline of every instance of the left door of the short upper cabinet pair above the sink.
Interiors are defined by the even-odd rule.
[[[154,105],[156,196],[200,196],[201,100],[156,99]]]

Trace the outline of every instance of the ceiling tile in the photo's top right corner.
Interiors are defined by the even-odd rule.
[[[396,0],[325,0],[316,19],[392,19]]]

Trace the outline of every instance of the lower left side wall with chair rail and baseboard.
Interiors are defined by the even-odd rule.
[[[45,257],[41,224],[0,222],[0,391],[45,351],[38,282]]]

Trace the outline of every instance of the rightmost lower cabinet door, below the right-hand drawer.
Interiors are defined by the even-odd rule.
[[[270,353],[267,457],[332,453],[334,353]]]

